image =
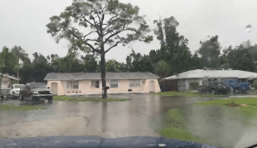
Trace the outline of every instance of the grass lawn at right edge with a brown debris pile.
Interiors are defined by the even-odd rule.
[[[240,110],[247,117],[254,117],[257,115],[257,99],[256,98],[231,98],[231,99],[221,99],[212,100],[196,103],[198,105],[224,105],[227,106],[228,102],[234,102],[235,104],[246,104],[248,106],[237,106],[236,109]]]

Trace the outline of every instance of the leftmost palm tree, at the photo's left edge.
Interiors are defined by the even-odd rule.
[[[17,70],[19,68],[19,61],[16,55],[12,52],[9,52],[9,48],[6,46],[3,47],[0,52],[0,90],[2,88],[2,79],[3,79],[3,68],[13,68],[13,70]]]

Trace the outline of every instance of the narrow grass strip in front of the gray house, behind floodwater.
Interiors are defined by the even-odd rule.
[[[154,95],[160,95],[160,96],[190,96],[190,97],[199,97],[198,92],[190,92],[190,91],[166,91],[166,92],[160,92],[160,93],[152,93]]]

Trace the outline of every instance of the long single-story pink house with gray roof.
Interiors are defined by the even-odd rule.
[[[106,72],[107,93],[160,92],[158,78],[151,72]],[[101,73],[48,73],[44,80],[54,95],[102,94]]]

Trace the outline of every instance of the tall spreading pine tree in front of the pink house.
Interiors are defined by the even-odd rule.
[[[152,36],[144,36],[151,30],[138,12],[137,6],[118,0],[73,0],[59,16],[50,18],[47,33],[55,37],[57,43],[62,38],[68,39],[72,44],[70,51],[80,49],[101,56],[102,98],[106,98],[105,54],[118,44],[153,40]],[[136,24],[139,26],[135,27]],[[89,27],[90,31],[83,33],[85,29],[75,27],[77,25]],[[105,49],[105,45],[110,47]]]

